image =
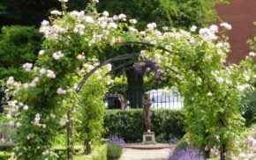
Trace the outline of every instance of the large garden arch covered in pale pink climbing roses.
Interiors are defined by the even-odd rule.
[[[41,23],[45,40],[37,62],[23,66],[30,72],[31,82],[20,84],[12,78],[7,82],[8,94],[14,97],[9,102],[9,114],[19,124],[15,139],[18,159],[56,159],[52,140],[59,121],[77,105],[86,105],[83,102],[88,99],[83,95],[88,91],[99,89],[90,96],[102,98],[98,95],[107,91],[111,79],[105,76],[109,72],[107,64],[134,55],[139,56],[140,62],[154,62],[172,77],[172,84],[184,97],[186,132],[192,145],[207,152],[219,149],[222,159],[236,153],[244,125],[238,101],[245,89],[252,89],[253,56],[240,65],[225,66],[230,46],[226,37],[218,33],[217,25],[200,30],[193,26],[187,32],[170,27],[160,31],[152,23],[145,31],[139,31],[135,19],[128,20],[124,14],[109,17],[107,11],[95,11],[95,1],[88,4],[86,11],[72,12],[65,11],[64,0],[61,2],[64,11],[53,12],[50,22]],[[228,24],[222,26],[230,29]],[[99,62],[106,47],[124,45],[143,49],[138,54]],[[100,84],[94,90],[90,84],[95,82]]]

